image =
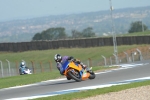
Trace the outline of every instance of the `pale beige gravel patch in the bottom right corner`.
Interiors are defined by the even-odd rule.
[[[150,85],[73,100],[150,100]]]

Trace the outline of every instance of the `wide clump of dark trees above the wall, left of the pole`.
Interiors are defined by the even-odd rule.
[[[84,37],[95,37],[95,32],[93,32],[92,27],[87,27],[81,32],[77,30],[72,30],[71,36],[67,35],[65,28],[56,27],[49,28],[41,33],[36,33],[32,40],[56,40],[56,39],[66,39],[66,38],[84,38]]]

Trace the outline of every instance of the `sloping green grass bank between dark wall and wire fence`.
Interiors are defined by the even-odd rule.
[[[123,45],[118,46],[118,53],[124,52],[131,48],[136,48],[139,45]],[[144,45],[143,45],[144,46]],[[113,56],[114,49],[113,46],[103,46],[103,47],[91,47],[91,48],[67,48],[67,49],[52,49],[52,50],[36,50],[36,51],[26,51],[26,52],[0,52],[0,60],[6,62],[8,59],[10,62],[20,62],[22,59],[26,62],[53,62],[54,55],[56,53],[63,55],[74,56],[80,60],[87,60],[91,58],[92,60],[102,60],[101,55],[105,57]]]

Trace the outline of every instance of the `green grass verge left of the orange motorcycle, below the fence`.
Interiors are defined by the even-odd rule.
[[[55,79],[58,77],[60,77],[59,72],[53,71],[53,72],[45,72],[39,74],[19,75],[19,76],[0,78],[1,80],[0,89],[13,87],[13,86],[27,85],[31,83],[46,81],[49,79]]]

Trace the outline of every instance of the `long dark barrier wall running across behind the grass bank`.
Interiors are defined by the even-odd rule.
[[[116,37],[117,45],[150,44],[150,36]],[[46,50],[72,47],[113,46],[113,38],[88,38],[55,41],[31,41],[17,43],[0,43],[0,51],[21,52],[28,50]]]

